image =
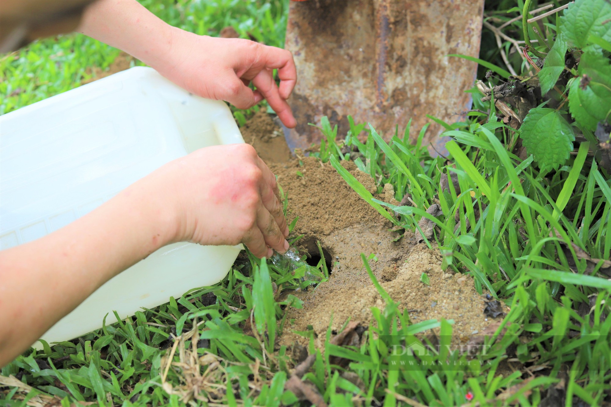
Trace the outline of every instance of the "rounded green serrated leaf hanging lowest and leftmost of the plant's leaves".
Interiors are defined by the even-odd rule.
[[[541,170],[561,166],[573,151],[573,128],[554,109],[530,109],[520,131],[522,144],[527,153],[533,155]]]

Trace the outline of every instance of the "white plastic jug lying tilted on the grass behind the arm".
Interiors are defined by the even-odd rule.
[[[225,103],[191,95],[145,67],[0,116],[0,250],[65,226],[180,156],[241,142]],[[70,340],[101,328],[106,314],[106,324],[114,323],[114,310],[126,318],[216,284],[240,249],[161,248],[106,282],[42,339]]]

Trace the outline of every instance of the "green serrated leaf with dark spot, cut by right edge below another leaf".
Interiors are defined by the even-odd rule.
[[[609,59],[599,53],[584,53],[577,74],[569,89],[569,110],[581,127],[594,131],[611,110]]]

